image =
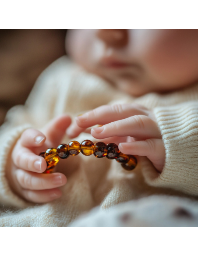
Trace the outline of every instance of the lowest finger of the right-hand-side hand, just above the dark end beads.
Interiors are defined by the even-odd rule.
[[[118,147],[122,153],[127,155],[147,156],[158,171],[163,170],[166,152],[162,139],[124,142],[120,143]]]

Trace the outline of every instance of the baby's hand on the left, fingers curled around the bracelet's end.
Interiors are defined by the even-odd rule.
[[[57,187],[65,185],[67,178],[62,173],[42,174],[47,165],[39,153],[49,147],[58,146],[70,124],[71,118],[62,115],[42,129],[46,136],[35,129],[23,132],[14,146],[13,164],[7,173],[11,188],[19,196],[30,202],[46,203],[62,195]]]

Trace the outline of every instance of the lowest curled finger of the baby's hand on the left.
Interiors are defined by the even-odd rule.
[[[62,196],[62,192],[58,188],[46,190],[26,190],[21,192],[22,196],[29,202],[47,203]]]

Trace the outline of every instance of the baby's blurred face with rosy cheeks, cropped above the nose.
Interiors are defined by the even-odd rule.
[[[74,29],[66,44],[83,68],[133,96],[198,81],[198,29]]]

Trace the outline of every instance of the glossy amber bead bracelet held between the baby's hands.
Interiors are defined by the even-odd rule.
[[[70,155],[77,156],[79,153],[85,156],[91,156],[94,154],[97,158],[107,157],[110,160],[115,159],[122,167],[127,170],[133,170],[137,165],[137,159],[132,155],[125,155],[120,152],[118,146],[115,143],[109,143],[106,145],[104,142],[94,143],[91,140],[84,140],[81,144],[78,141],[71,141],[67,144],[60,144],[57,148],[47,149],[46,152],[42,152],[39,156],[45,158],[47,162],[46,173],[53,171],[53,167],[58,164],[61,159],[66,159]]]

